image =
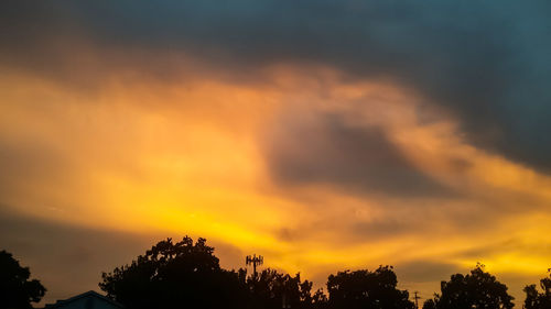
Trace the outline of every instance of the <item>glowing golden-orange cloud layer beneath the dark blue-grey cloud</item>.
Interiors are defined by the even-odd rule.
[[[400,276],[400,265],[418,262],[465,271],[480,261],[536,282],[550,266],[550,177],[468,144],[454,115],[414,89],[307,65],[233,78],[185,59],[163,79],[87,59],[73,74],[101,76],[90,88],[17,69],[1,76],[1,202],[24,216],[201,235],[314,278],[379,264],[398,265]],[[325,114],[346,132],[376,130],[445,194],[348,190],[328,178],[282,183],[270,157],[327,143],[316,131]],[[309,133],[294,136],[302,132],[294,128]],[[355,159],[392,164],[385,155]],[[402,284],[425,296],[439,286]]]

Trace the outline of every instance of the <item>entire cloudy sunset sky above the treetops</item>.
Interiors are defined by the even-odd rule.
[[[45,302],[165,238],[323,287],[551,267],[551,2],[0,4],[0,249]],[[517,306],[518,307],[518,306]]]

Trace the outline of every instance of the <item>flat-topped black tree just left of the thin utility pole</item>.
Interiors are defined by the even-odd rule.
[[[391,266],[375,272],[339,272],[327,280],[329,308],[408,309],[414,305],[407,290],[397,289],[398,279]]]

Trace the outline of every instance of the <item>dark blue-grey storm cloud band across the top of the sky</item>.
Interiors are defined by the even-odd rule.
[[[551,169],[549,1],[4,1],[2,7],[0,53],[21,65],[63,64],[55,51],[47,52],[45,35],[77,30],[106,46],[184,51],[241,70],[323,63],[353,76],[413,86],[453,111],[471,142]]]

